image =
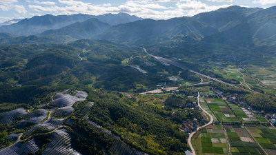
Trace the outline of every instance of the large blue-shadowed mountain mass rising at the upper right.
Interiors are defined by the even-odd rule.
[[[164,41],[194,42],[201,39],[208,43],[230,41],[234,44],[272,45],[276,39],[275,13],[275,7],[261,9],[231,6],[194,17],[161,21],[144,19],[115,25],[97,38],[139,45]]]

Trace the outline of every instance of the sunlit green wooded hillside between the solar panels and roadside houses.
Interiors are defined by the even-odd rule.
[[[172,121],[170,114],[164,111],[160,107],[137,102],[135,98],[122,99],[117,95],[97,99],[89,119],[108,128],[126,144],[142,152],[184,154],[188,149],[188,135],[179,132],[179,125],[173,125],[176,121]],[[184,119],[184,116],[181,118]]]

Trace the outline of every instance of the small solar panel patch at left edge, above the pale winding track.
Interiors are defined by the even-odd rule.
[[[23,108],[18,108],[16,110],[6,112],[5,116],[3,117],[2,123],[13,123],[17,116],[24,116],[26,114],[28,114],[28,112],[26,112],[26,110],[24,110]]]

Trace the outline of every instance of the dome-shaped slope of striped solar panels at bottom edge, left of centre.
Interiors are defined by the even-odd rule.
[[[51,134],[52,142],[48,147],[44,150],[43,155],[66,155],[66,154],[79,154],[79,152],[75,151],[71,147],[71,138],[65,130],[57,130],[52,132]]]

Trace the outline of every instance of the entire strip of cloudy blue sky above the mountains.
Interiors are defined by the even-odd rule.
[[[150,19],[193,16],[228,6],[269,8],[276,0],[0,0],[0,22],[44,14],[117,14]]]

